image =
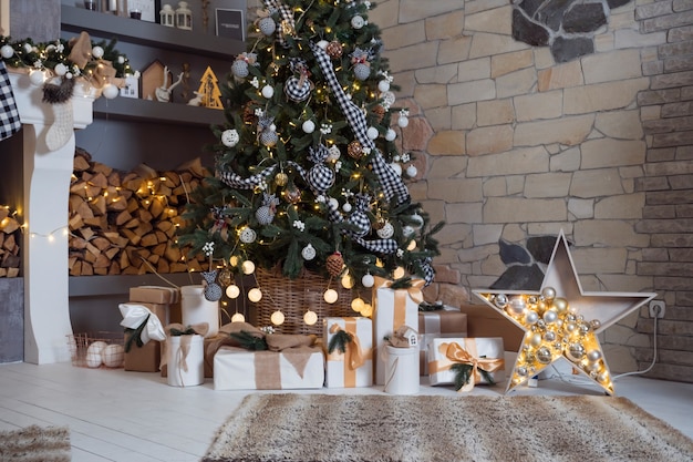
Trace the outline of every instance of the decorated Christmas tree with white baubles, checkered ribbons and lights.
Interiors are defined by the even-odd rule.
[[[416,175],[396,143],[408,113],[394,106],[374,4],[265,7],[221,85],[216,175],[193,193],[179,244],[232,271],[251,261],[363,287],[373,275],[431,283],[442,224],[430,226],[402,177],[402,165]]]

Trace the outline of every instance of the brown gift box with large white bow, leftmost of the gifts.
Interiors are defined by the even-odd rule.
[[[156,372],[162,360],[159,341],[166,339],[164,327],[157,315],[158,304],[121,304],[121,326],[125,328],[124,369],[137,372]],[[151,309],[153,308],[153,309]],[[165,312],[165,309],[163,310]]]

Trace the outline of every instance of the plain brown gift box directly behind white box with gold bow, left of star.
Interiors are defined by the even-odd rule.
[[[418,312],[418,333],[421,335],[418,370],[428,374],[428,343],[434,338],[467,337],[467,315],[458,309],[438,309]]]

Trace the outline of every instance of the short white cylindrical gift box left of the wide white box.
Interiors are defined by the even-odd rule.
[[[193,387],[205,383],[204,337],[199,335],[170,336],[166,339],[167,381],[172,387]]]

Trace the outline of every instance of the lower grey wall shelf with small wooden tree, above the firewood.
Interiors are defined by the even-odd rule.
[[[94,101],[94,116],[188,126],[221,125],[225,121],[221,110],[123,96],[113,100],[100,97]]]

